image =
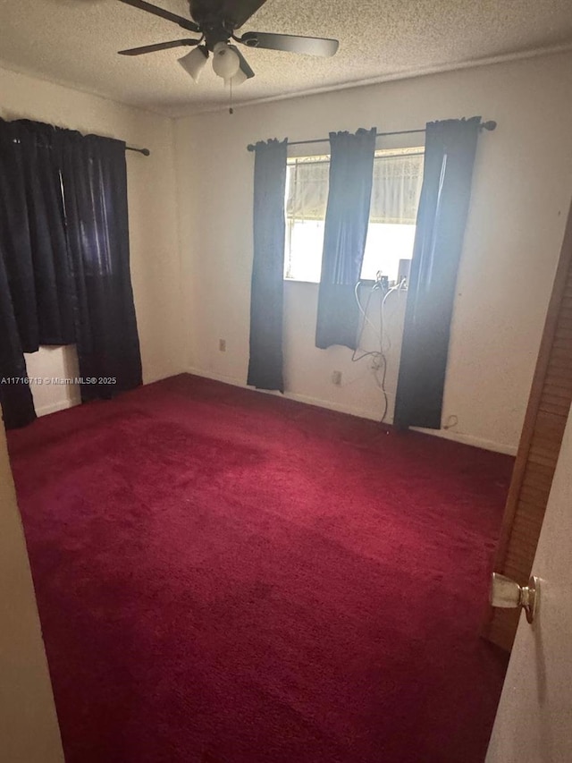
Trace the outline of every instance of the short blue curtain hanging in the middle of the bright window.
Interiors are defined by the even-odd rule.
[[[330,133],[330,185],[315,346],[357,346],[354,293],[366,249],[374,176],[376,129]]]

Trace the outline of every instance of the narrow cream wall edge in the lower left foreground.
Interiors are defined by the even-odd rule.
[[[0,759],[63,763],[34,587],[0,420]]]

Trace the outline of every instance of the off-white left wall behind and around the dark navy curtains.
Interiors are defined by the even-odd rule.
[[[0,69],[0,115],[57,124],[149,148],[127,152],[131,276],[146,383],[181,372],[181,272],[172,121],[51,82]],[[29,377],[77,376],[72,348],[28,355]],[[71,371],[73,373],[71,373]],[[70,386],[33,386],[38,414],[79,401]]]

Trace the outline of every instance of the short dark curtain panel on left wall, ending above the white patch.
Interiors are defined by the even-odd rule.
[[[5,264],[24,352],[73,342],[62,185],[55,128],[0,122],[0,197]]]

